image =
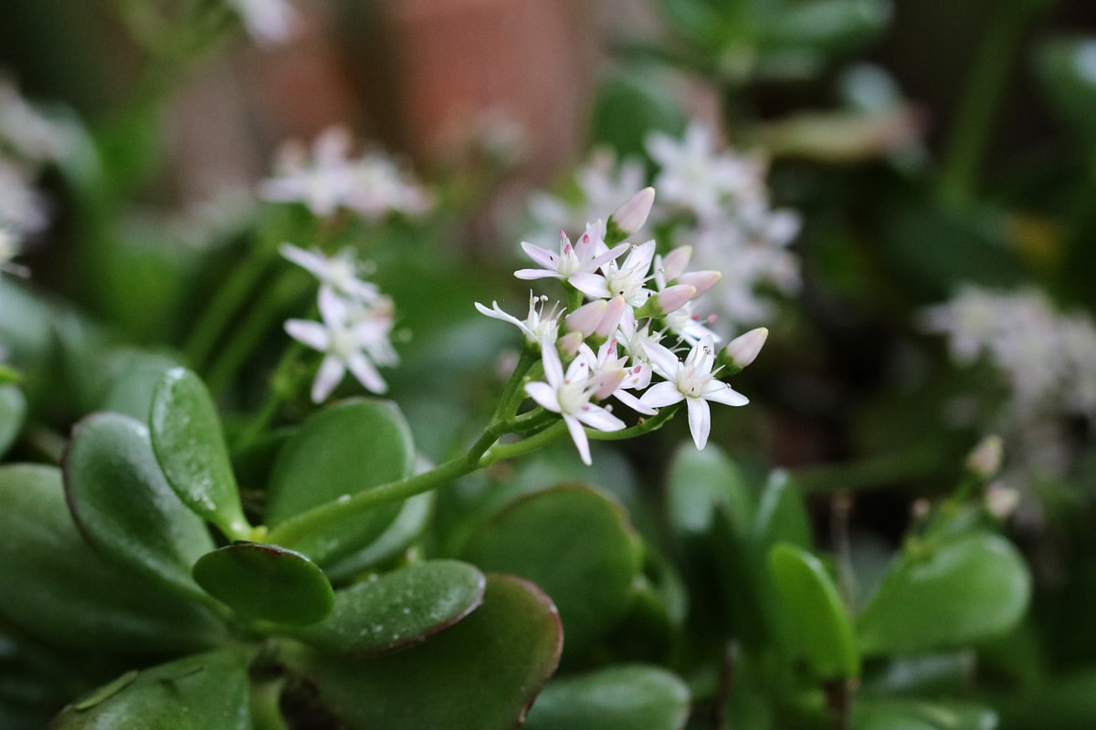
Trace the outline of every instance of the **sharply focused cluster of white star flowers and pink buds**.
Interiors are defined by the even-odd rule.
[[[515,325],[527,347],[539,355],[544,380],[525,384],[541,408],[559,414],[582,461],[591,463],[585,428],[618,431],[626,424],[603,405],[609,398],[641,416],[685,403],[689,431],[703,449],[711,429],[709,402],[741,406],[742,394],[718,378],[753,361],[767,331],[758,328],[717,352],[720,337],[692,314],[695,299],[715,286],[719,271],[687,271],[687,247],[657,253],[657,244],[615,242],[646,222],[654,190],[646,188],[620,206],[605,223],[586,225],[572,243],[560,232],[557,251],[522,243],[538,268],[515,273],[520,279],[557,279],[570,309],[547,306],[530,296],[525,320],[494,302],[487,316]]]

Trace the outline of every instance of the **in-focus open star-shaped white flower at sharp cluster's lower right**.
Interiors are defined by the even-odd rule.
[[[728,406],[744,406],[750,401],[730,385],[716,379],[715,344],[706,338],[693,346],[685,361],[661,345],[647,345],[647,354],[654,371],[665,378],[643,393],[640,403],[653,408],[685,401],[688,427],[697,449],[704,449],[711,431],[711,412],[708,401]],[[718,370],[717,370],[718,372]]]

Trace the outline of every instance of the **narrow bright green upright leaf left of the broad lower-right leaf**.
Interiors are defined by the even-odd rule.
[[[853,624],[822,563],[807,551],[779,543],[769,551],[768,567],[796,651],[822,680],[857,676],[860,658]]]

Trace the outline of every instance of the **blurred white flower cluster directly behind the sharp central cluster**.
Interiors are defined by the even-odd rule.
[[[795,212],[772,207],[764,159],[720,151],[713,132],[695,121],[681,139],[652,134],[647,150],[657,165],[660,200],[652,222],[678,247],[688,246],[695,265],[727,273],[703,304],[721,317],[724,333],[770,318],[772,302],[762,290],[788,296],[799,288],[799,262],[789,245],[800,222]],[[623,190],[639,187],[643,176],[640,162],[597,151],[575,172],[574,195],[541,193],[529,209],[543,227],[581,225],[609,200],[623,199]]]

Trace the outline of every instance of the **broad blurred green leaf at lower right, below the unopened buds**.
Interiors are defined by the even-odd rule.
[[[860,614],[860,651],[931,651],[998,636],[1020,621],[1030,594],[1024,558],[997,535],[921,544],[894,563]]]

